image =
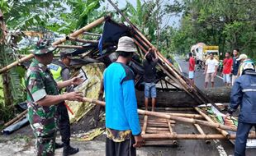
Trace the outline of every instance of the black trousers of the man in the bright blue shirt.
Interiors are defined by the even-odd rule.
[[[106,156],[136,156],[136,149],[132,146],[134,144],[134,136],[123,142],[114,142],[107,138]]]

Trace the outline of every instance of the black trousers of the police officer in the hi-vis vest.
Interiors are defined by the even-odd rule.
[[[64,145],[69,145],[70,142],[70,122],[69,122],[69,113],[68,109],[63,103],[59,103],[58,106],[59,112],[59,132],[61,135],[61,140]]]

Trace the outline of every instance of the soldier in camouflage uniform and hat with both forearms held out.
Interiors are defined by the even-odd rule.
[[[59,94],[59,89],[79,85],[83,80],[75,77],[56,83],[47,65],[52,62],[53,51],[49,41],[40,40],[33,51],[35,59],[26,72],[28,116],[36,136],[37,155],[55,155],[55,135],[58,128],[57,104],[64,100],[82,101],[81,93]]]

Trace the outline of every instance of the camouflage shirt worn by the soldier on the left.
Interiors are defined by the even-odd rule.
[[[48,68],[36,59],[31,62],[26,72],[26,86],[31,92],[31,95],[27,94],[28,116],[35,135],[54,134],[58,125],[57,106],[40,106],[36,102],[45,98],[46,95],[57,95],[59,92]]]

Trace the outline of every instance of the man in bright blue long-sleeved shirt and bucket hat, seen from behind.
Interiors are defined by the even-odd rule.
[[[116,62],[103,74],[106,100],[106,156],[135,156],[143,144],[137,112],[134,73],[126,66],[136,52],[133,39],[119,39]]]

